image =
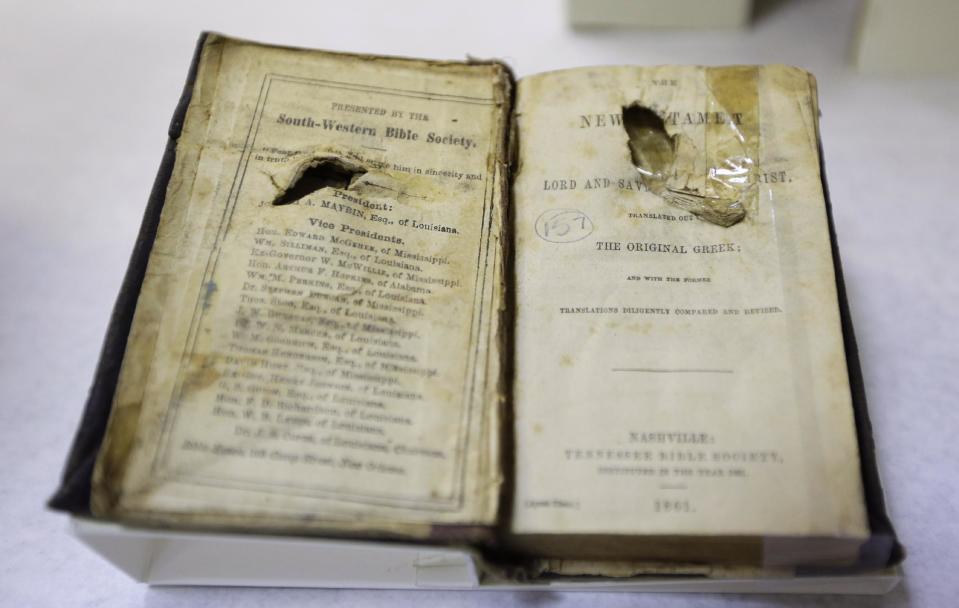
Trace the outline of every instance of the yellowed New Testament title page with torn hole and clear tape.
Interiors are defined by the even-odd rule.
[[[854,555],[868,529],[812,78],[584,68],[521,80],[516,104],[517,545]],[[633,104],[675,155],[659,181],[631,159]],[[717,225],[686,210],[703,200],[745,213]]]

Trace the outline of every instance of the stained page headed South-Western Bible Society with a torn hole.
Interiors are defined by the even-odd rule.
[[[97,515],[494,521],[509,88],[495,63],[207,38]]]

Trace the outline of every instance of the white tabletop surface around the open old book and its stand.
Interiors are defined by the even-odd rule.
[[[959,591],[959,80],[857,75],[855,2],[786,2],[747,32],[571,31],[558,1],[0,5],[0,604],[950,606]],[[772,63],[819,78],[826,162],[905,583],[866,598],[149,589],[44,509],[203,29],[417,57]]]

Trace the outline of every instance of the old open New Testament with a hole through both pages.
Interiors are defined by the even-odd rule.
[[[856,562],[888,524],[817,120],[784,66],[205,35],[54,504],[566,572]]]

